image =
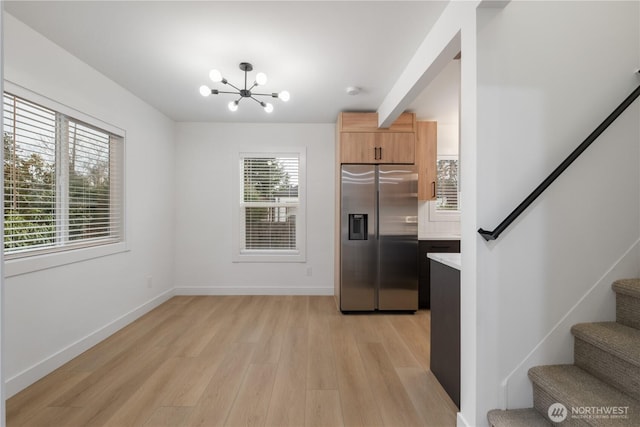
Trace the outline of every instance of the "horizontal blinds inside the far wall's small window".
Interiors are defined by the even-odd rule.
[[[296,250],[297,157],[242,157],[241,250]]]

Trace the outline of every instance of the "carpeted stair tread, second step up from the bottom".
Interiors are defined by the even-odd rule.
[[[575,365],[535,366],[529,369],[529,378],[563,403],[570,414],[572,408],[628,407],[627,418],[600,421],[606,425],[640,425],[640,402]]]

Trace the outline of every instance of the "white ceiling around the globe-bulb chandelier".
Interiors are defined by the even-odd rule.
[[[378,108],[447,1],[3,3],[175,121],[330,123],[340,111]],[[273,99],[271,114],[243,100],[234,113],[232,95],[199,94],[203,84],[225,89],[208,79],[211,68],[242,86],[243,61],[254,66],[250,79],[269,77],[260,92],[286,89],[291,100]],[[360,94],[348,95],[348,86]]]

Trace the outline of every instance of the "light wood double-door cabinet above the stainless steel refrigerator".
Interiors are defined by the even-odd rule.
[[[380,129],[378,113],[341,113],[338,118],[340,163],[404,163],[416,159],[415,114],[404,113]]]

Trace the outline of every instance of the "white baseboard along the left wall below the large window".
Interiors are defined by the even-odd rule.
[[[59,368],[74,357],[80,355],[89,348],[98,344],[100,341],[124,328],[137,318],[153,310],[174,295],[174,289],[169,289],[168,291],[147,301],[137,308],[134,308],[130,312],[120,316],[116,320],[106,324],[102,328],[88,334],[84,338],[81,338],[73,344],[54,353],[41,362],[38,362],[35,365],[20,372],[19,374],[9,378],[5,383],[5,397],[8,399],[19,391],[35,383],[40,378],[53,372],[55,369]]]

